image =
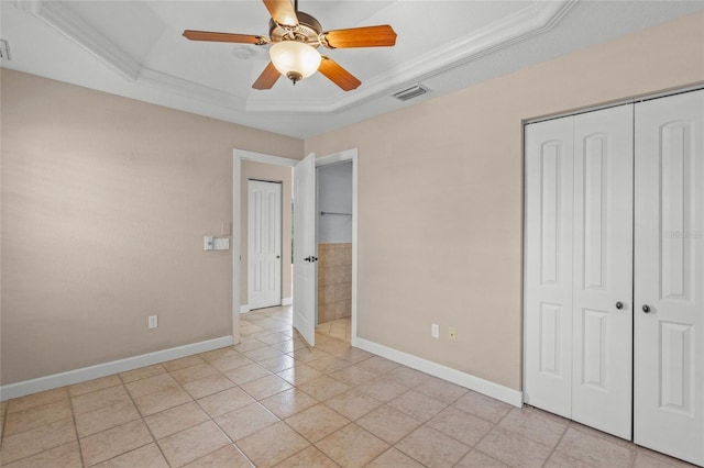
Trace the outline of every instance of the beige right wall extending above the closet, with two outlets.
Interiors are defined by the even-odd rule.
[[[359,148],[359,335],[520,389],[522,121],[702,82],[700,13],[306,141]]]

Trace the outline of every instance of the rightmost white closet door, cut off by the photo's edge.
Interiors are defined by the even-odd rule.
[[[636,105],[637,444],[704,466],[704,91]]]

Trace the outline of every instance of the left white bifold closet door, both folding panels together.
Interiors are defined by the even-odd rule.
[[[526,129],[526,402],[630,437],[632,108]]]

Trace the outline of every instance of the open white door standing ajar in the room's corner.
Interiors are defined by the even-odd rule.
[[[316,344],[316,157],[294,168],[294,328]]]

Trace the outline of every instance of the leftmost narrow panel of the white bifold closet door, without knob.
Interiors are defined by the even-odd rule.
[[[526,126],[525,401],[570,417],[572,118]]]

